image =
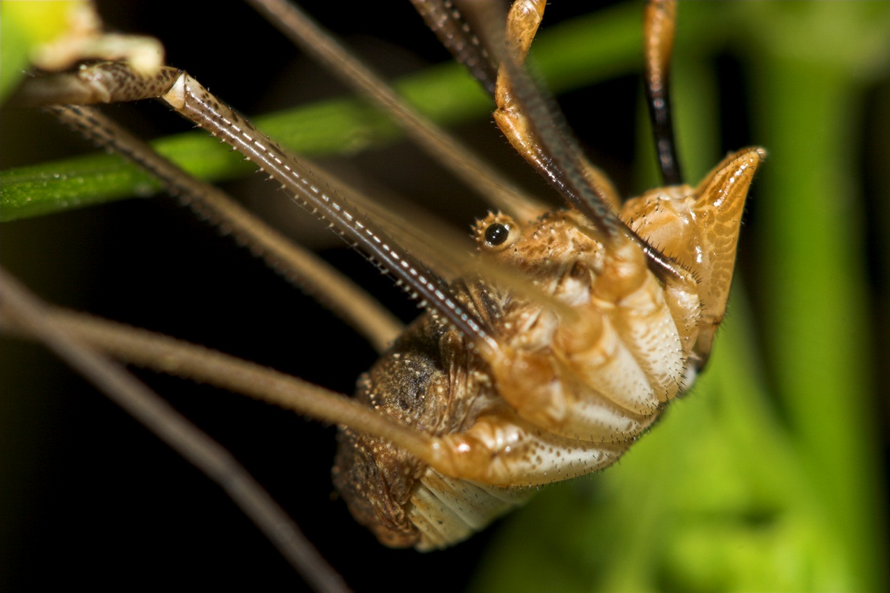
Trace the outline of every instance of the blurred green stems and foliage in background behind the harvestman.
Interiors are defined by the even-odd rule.
[[[578,71],[609,77],[637,68],[638,10],[620,6],[601,20],[573,25],[579,39],[602,42],[593,44],[600,52],[594,58],[566,34],[542,39],[536,46],[541,69],[560,88],[587,84]],[[720,157],[714,81],[717,58],[725,56],[740,63],[751,135],[769,158],[754,184],[756,224],[744,229],[756,238],[742,254],[748,274],[733,291],[708,370],[617,467],[550,487],[508,518],[476,590],[878,591],[890,585],[886,443],[878,432],[886,428],[886,387],[877,383],[878,367],[886,365],[886,325],[876,311],[886,302],[880,270],[887,243],[881,237],[866,243],[869,229],[886,230],[880,217],[887,209],[876,194],[890,191],[890,134],[863,140],[874,132],[863,128],[872,121],[867,113],[890,111],[890,3],[682,3],[675,105],[691,179]],[[557,64],[570,70],[554,73]],[[439,109],[434,99],[446,94],[458,103],[443,106],[439,118],[484,111],[469,86],[465,98],[435,90],[465,85],[458,77],[454,69],[436,70],[405,88],[426,89],[421,102],[433,110]],[[340,139],[322,150],[358,150],[392,135],[383,124],[368,127],[367,116],[355,103],[328,102],[303,115],[261,119],[261,126],[303,150],[300,142],[314,141],[281,136],[295,130],[303,137],[307,121],[326,138],[336,127]],[[648,163],[644,136],[637,152]],[[199,175],[243,170],[224,150],[222,160],[208,165],[213,157],[207,155],[218,150],[197,134],[158,145],[189,158],[185,166]],[[870,182],[867,193],[862,176],[874,159],[883,163],[884,176]],[[651,166],[639,168],[657,183]],[[46,199],[43,212],[81,199],[71,192],[115,199],[151,187],[106,156],[3,175],[0,199],[8,219],[19,216],[8,209],[16,207],[16,195]],[[60,176],[61,184],[47,181]],[[867,224],[866,213],[879,220]],[[867,266],[869,254],[880,263],[877,272]]]

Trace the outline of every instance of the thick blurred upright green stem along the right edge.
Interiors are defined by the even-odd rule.
[[[770,147],[762,238],[770,360],[809,479],[834,527],[838,587],[881,590],[885,520],[871,410],[869,304],[850,71],[781,54],[760,61],[757,131]]]

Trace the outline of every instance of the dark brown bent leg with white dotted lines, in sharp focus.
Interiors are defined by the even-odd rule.
[[[391,273],[409,296],[440,313],[481,348],[498,344],[476,315],[465,310],[446,283],[345,199],[298,158],[281,150],[244,118],[220,102],[182,70],[163,68],[153,77],[126,64],[110,62],[81,69],[75,75],[35,78],[23,85],[23,99],[58,104],[137,101],[160,98],[174,110],[229,143],[261,170],[269,172],[305,209],[330,224],[352,247]]]

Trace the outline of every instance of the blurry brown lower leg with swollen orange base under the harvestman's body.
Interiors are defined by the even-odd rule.
[[[4,279],[0,277],[0,280]],[[4,307],[8,307],[6,304],[8,300],[4,297]],[[22,322],[20,316],[13,313],[15,312],[6,313],[5,309],[0,309],[0,321],[3,321],[4,331],[20,333],[32,339],[42,339],[38,329],[29,326],[27,320]],[[375,410],[370,410],[344,395],[334,394],[298,378],[264,368],[253,362],[214,352],[203,346],[188,344],[145,329],[135,329],[113,321],[61,310],[45,313],[44,323],[54,328],[61,328],[65,335],[90,348],[109,353],[119,360],[247,394],[263,402],[273,403],[312,418],[342,424],[362,433],[382,437],[422,459],[443,475],[509,486],[549,483],[583,473],[582,465],[578,465],[575,468],[577,473],[554,474],[553,471],[548,472],[546,466],[536,462],[534,456],[529,457],[526,454],[529,447],[549,448],[565,445],[565,439],[559,435],[546,435],[509,412],[479,418],[471,430],[463,433],[426,435],[414,428],[401,425]],[[130,410],[128,407],[125,409]],[[134,416],[141,418],[136,413]],[[155,431],[153,423],[156,421],[162,423],[164,420],[150,420],[153,432]],[[178,425],[172,425],[173,428],[170,426],[162,426],[159,429],[161,432],[157,434],[164,438],[165,431],[169,430],[174,434],[181,431]],[[522,446],[516,446],[515,439],[510,437],[517,432],[522,435]],[[492,438],[492,435],[498,434],[505,436]],[[589,451],[600,451],[597,459],[605,465],[616,459],[621,451],[621,447],[599,443],[575,443],[574,447],[568,449],[572,449],[579,460],[589,455]],[[196,456],[190,449],[182,454],[187,459]],[[224,469],[216,467],[212,476],[215,475],[225,483],[223,487],[227,491],[231,487],[229,480],[235,484],[234,489],[237,492],[232,494],[233,498],[240,495],[241,489],[247,490],[239,472],[231,470],[228,466]],[[254,516],[253,509],[246,509],[246,512],[248,516]],[[265,521],[263,517],[261,520]],[[287,535],[288,539],[291,537],[293,536]]]

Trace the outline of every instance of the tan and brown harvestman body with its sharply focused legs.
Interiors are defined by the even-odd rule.
[[[417,4],[437,32],[455,26],[454,12]],[[180,70],[146,77],[111,63],[68,79],[77,102],[162,97],[243,151],[425,302],[429,312],[360,380],[356,399],[379,413],[295,404],[348,426],[335,483],[387,545],[448,546],[525,500],[531,486],[611,465],[692,385],[724,316],[744,200],[763,150],[725,158],[697,187],[679,183],[666,90],[675,7],[653,2],[647,83],[669,186],[621,205],[518,66],[543,4],[514,4],[508,53],[457,53],[490,61],[490,72],[477,75],[495,97],[498,126],[570,204],[547,212],[506,200],[476,224],[479,257],[498,271],[494,281],[469,273],[446,283],[428,272]]]

